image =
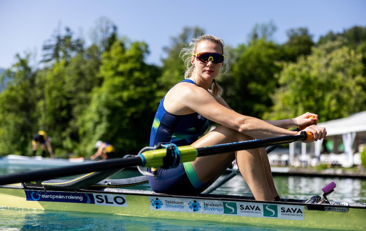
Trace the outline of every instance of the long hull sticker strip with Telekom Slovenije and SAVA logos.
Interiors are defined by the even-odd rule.
[[[150,210],[304,220],[304,206],[236,201],[149,197]]]

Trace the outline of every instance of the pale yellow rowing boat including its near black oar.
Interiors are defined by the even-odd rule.
[[[146,190],[119,189],[118,180],[100,178],[123,167],[174,167],[197,156],[267,147],[308,139],[306,133],[262,140],[242,141],[203,148],[183,146],[154,149],[137,156],[0,176],[0,207],[76,212],[113,213],[123,216],[198,220],[209,223],[249,224],[299,228],[366,230],[366,204],[326,199],[335,188],[323,188],[326,203],[305,200],[257,201],[254,198],[216,194],[181,196]],[[90,173],[91,170],[100,171]],[[108,173],[109,171],[109,173]],[[72,180],[52,180],[87,173]],[[48,181],[44,181],[51,179]],[[105,178],[103,178],[105,179]],[[31,181],[31,182],[28,182]],[[37,181],[37,182],[34,182]],[[93,181],[96,182],[93,183]],[[22,185],[16,184],[23,182]],[[145,178],[146,182],[146,178]],[[130,182],[132,185],[134,181]],[[81,186],[82,185],[82,186]],[[322,200],[323,201],[323,200]],[[322,202],[320,201],[320,202]]]

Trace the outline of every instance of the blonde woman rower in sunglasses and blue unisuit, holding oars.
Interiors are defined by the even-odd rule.
[[[174,143],[198,148],[299,135],[300,132],[287,129],[313,124],[318,120],[317,114],[308,112],[288,120],[263,121],[232,110],[220,97],[222,89],[215,81],[225,58],[224,43],[215,36],[194,38],[181,54],[187,67],[185,79],[172,87],[160,101],[151,130],[150,146]],[[211,85],[212,90],[209,89]],[[208,128],[208,120],[221,125],[198,139]],[[308,126],[304,131],[313,133],[313,140],[323,139],[326,135],[325,128],[315,125]],[[158,168],[156,179],[149,177],[149,183],[157,193],[199,194],[219,178],[234,159],[256,200],[280,199],[264,148],[202,156],[168,170]]]

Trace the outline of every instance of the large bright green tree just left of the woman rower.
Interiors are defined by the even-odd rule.
[[[79,155],[91,155],[97,140],[113,144],[120,156],[148,144],[160,69],[144,63],[147,53],[143,42],[116,41],[102,54],[103,83],[79,119]]]

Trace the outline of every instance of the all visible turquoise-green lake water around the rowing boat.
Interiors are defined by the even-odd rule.
[[[1,162],[1,160],[0,160]],[[1,165],[0,174],[17,173],[40,168],[39,166]],[[42,168],[42,167],[41,167]],[[127,178],[140,175],[135,169],[123,170],[111,178]],[[222,179],[223,176],[220,179]],[[334,181],[335,192],[328,196],[332,201],[366,202],[366,180],[317,177],[275,176],[277,191],[282,198],[307,199],[321,194],[322,188]],[[142,184],[131,189],[150,190]],[[240,175],[215,190],[215,194],[253,196]],[[200,221],[173,219],[147,219],[143,217],[124,217],[102,213],[59,212],[41,210],[22,210],[0,208],[0,230],[283,230],[284,227],[263,227],[226,225]],[[286,230],[291,230],[286,228]],[[299,230],[298,228],[293,229]],[[311,229],[304,229],[311,230]]]

